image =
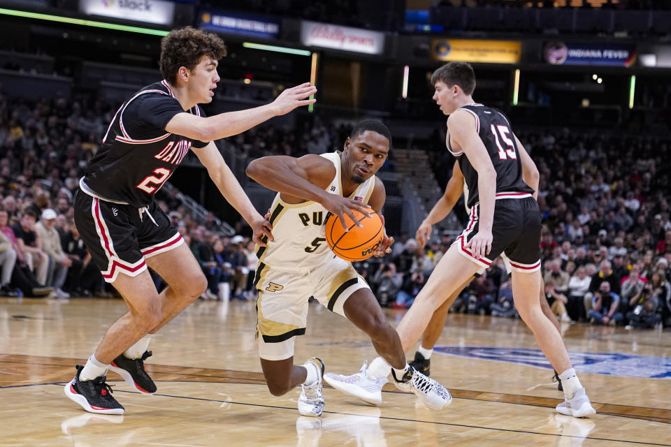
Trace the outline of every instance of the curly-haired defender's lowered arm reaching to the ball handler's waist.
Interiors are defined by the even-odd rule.
[[[208,174],[212,179],[212,182],[215,182],[217,189],[222,193],[222,196],[226,199],[228,203],[233,205],[239,213],[240,216],[250,224],[252,227],[253,235],[252,240],[254,243],[260,247],[266,247],[266,244],[261,240],[261,237],[266,235],[268,240],[273,240],[273,235],[270,234],[270,230],[273,227],[270,225],[267,219],[261,217],[261,214],[254,208],[250,198],[247,197],[243,187],[240,186],[238,179],[233,175],[231,169],[224,161],[222,154],[219,153],[219,149],[215,143],[210,142],[209,145],[203,147],[202,149],[192,149],[198,159],[203,163],[203,166],[207,168]]]

